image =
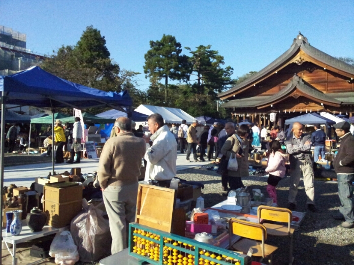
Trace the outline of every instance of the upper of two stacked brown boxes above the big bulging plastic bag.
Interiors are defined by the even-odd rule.
[[[68,188],[56,188],[45,185],[44,200],[58,204],[82,200],[82,187],[83,185]]]

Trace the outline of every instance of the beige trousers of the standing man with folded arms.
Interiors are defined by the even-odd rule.
[[[295,165],[291,167],[290,187],[289,187],[289,203],[296,204],[296,195],[298,194],[298,186],[300,178],[304,178],[304,186],[307,196],[307,204],[314,204],[314,176],[312,165],[306,160],[296,159]]]

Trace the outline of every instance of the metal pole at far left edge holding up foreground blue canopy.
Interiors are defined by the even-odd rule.
[[[0,220],[3,220],[3,205],[4,205],[4,155],[5,155],[5,93],[1,95],[1,139],[0,139]],[[3,240],[3,229],[0,229],[0,239]],[[2,264],[2,254],[0,253],[0,265]]]

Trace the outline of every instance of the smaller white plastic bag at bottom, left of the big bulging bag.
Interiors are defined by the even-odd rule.
[[[60,265],[74,265],[79,261],[77,246],[70,231],[57,233],[50,245],[49,255],[55,257],[55,263]]]

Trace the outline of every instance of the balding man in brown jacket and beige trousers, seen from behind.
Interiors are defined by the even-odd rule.
[[[116,137],[110,138],[101,153],[98,180],[109,218],[112,254],[127,248],[128,224],[134,222],[138,177],[146,145],[131,132],[131,120],[118,118]]]

